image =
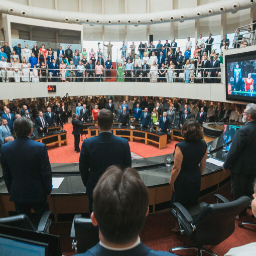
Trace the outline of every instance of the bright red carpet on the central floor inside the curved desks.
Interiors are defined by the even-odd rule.
[[[48,147],[48,154],[51,163],[75,163],[79,160],[79,153],[74,151],[74,136],[72,135],[72,124],[64,124],[64,130],[67,131],[68,145],[62,145],[60,148],[55,145]],[[85,139],[85,136],[83,136]],[[177,141],[171,141],[166,149],[158,149],[158,146],[146,145],[144,141],[129,142],[131,151],[142,157],[155,157],[165,154],[171,154]],[[80,143],[81,147],[81,143]]]

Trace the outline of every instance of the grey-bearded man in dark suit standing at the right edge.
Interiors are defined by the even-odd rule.
[[[256,104],[250,103],[243,111],[245,125],[236,131],[223,164],[223,170],[231,171],[231,196],[251,196],[256,178]]]

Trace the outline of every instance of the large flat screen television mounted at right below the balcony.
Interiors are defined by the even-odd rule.
[[[225,56],[226,100],[256,102],[256,51]]]

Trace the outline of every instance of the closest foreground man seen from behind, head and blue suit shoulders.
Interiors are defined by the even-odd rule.
[[[140,240],[149,213],[148,188],[133,168],[110,166],[93,191],[91,221],[99,229],[99,243],[77,256],[171,256]]]

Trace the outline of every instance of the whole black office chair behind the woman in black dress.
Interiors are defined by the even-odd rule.
[[[186,209],[182,204],[174,203],[171,214],[178,222],[179,233],[185,234],[196,245],[175,247],[170,252],[197,249],[198,256],[202,255],[202,251],[217,256],[204,245],[217,245],[234,232],[235,216],[248,206],[250,198],[241,196],[229,202],[219,194],[214,196],[217,199],[216,204],[200,202]],[[223,203],[218,203],[218,199]]]

